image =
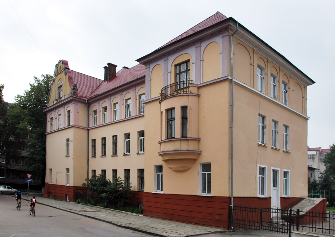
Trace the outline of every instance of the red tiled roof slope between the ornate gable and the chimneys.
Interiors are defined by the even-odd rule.
[[[69,83],[71,80],[70,77],[72,76],[73,83],[77,84],[78,95],[74,95],[75,97],[87,99],[88,96],[103,82],[103,80],[70,69],[66,71],[68,73]],[[73,85],[70,86],[72,87]]]

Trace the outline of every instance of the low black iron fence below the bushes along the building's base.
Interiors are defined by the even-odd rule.
[[[104,196],[87,195],[85,193],[76,192],[76,199],[80,199],[83,203],[94,206],[107,207],[121,211],[131,211],[131,209],[143,210],[143,203],[122,199],[111,199]],[[143,211],[142,211],[143,212]]]

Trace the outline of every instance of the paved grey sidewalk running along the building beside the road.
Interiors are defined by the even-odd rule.
[[[33,195],[30,195],[31,198]],[[22,196],[23,200],[28,200],[26,196]],[[161,220],[137,214],[129,214],[110,209],[102,209],[97,207],[85,206],[77,203],[69,203],[64,201],[45,198],[41,195],[36,195],[37,204],[46,205],[67,212],[71,212],[84,217],[92,218],[99,221],[104,221],[119,227],[139,231],[155,236],[192,236],[210,233],[226,232],[226,230],[185,224],[175,221]]]

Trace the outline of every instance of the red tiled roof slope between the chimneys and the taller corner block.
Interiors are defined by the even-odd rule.
[[[93,97],[104,93],[110,89],[113,89],[117,86],[135,80],[137,78],[145,76],[145,66],[142,64],[137,64],[136,66],[129,69],[121,69],[116,73],[116,76],[109,81],[103,81],[88,97]],[[78,89],[79,93],[79,89]]]

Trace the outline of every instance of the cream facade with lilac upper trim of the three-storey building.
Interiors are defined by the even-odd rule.
[[[117,176],[125,179],[129,170],[132,190],[141,191],[144,207],[148,205],[144,214],[161,218],[165,217],[154,214],[163,213],[155,207],[159,201],[152,199],[210,202],[230,197],[230,35],[236,23],[222,18],[138,59],[143,74],[127,83],[115,80],[138,66],[120,70],[114,79],[106,80],[105,74],[105,81],[96,84],[99,93],[86,99],[77,94],[75,72],[73,79],[70,70],[64,73],[68,64],[61,60],[46,109],[46,180],[49,169],[54,175],[69,168],[70,186],[80,186],[87,176],[105,171],[106,178],[113,179],[117,170]],[[307,86],[314,81],[242,25],[233,36],[233,55],[233,196],[255,198],[255,203],[263,202],[258,199],[262,197],[266,205],[287,206],[284,197],[307,197]],[[60,85],[62,98],[57,97]],[[144,96],[145,113],[140,107]],[[145,152],[139,148],[141,131]],[[69,156],[64,155],[66,139]],[[144,190],[139,169],[145,171]],[[59,174],[57,184],[66,183],[66,177]],[[228,209],[229,204],[222,203]]]

